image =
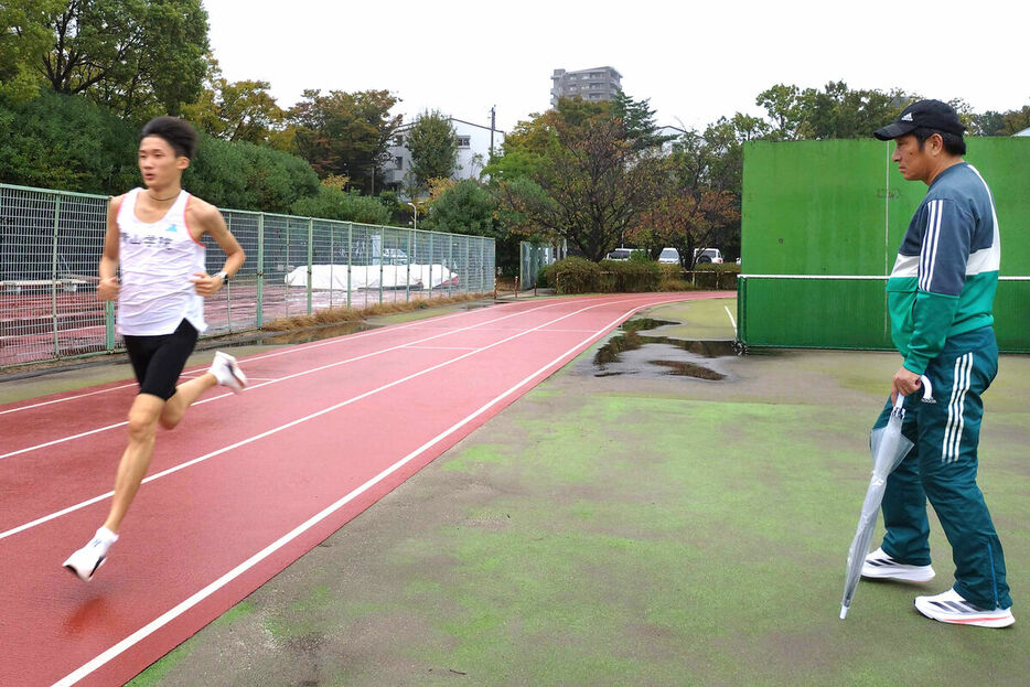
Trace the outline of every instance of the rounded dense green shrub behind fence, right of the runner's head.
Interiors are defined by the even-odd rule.
[[[289,213],[299,198],[319,192],[319,179],[294,155],[202,136],[183,186],[219,207]]]

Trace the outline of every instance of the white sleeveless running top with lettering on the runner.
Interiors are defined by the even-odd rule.
[[[204,299],[190,278],[206,271],[206,267],[204,246],[193,240],[186,226],[190,194],[180,192],[163,217],[147,223],[136,216],[141,191],[129,191],[118,210],[118,333],[171,334],[183,320],[203,332],[207,329]]]

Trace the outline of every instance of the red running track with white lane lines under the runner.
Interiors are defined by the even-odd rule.
[[[136,385],[0,406],[0,685],[122,684],[636,310],[723,293],[495,305],[242,361],[160,431],[93,582],[61,563],[103,522]]]

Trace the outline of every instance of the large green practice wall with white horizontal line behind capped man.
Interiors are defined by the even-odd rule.
[[[970,138],[966,160],[995,196],[1002,276],[1030,276],[1030,138]],[[748,275],[886,276],[926,193],[890,161],[893,143],[755,141],[744,148],[740,339],[749,346],[891,348],[882,280]],[[1030,282],[1002,281],[995,328],[1030,351]]]

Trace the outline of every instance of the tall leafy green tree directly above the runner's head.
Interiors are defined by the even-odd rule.
[[[207,12],[201,0],[69,0],[47,14],[40,73],[124,117],[178,115],[201,93]]]

